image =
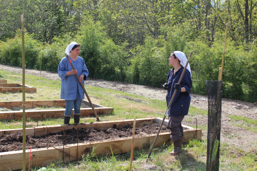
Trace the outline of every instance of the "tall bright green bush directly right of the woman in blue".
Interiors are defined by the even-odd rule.
[[[125,80],[127,56],[125,48],[115,45],[106,37],[104,27],[92,19],[85,19],[78,41],[81,57],[84,58],[89,76],[105,80]],[[79,43],[78,42],[78,43]]]

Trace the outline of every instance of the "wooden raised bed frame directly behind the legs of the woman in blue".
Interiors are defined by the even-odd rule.
[[[22,101],[0,101],[0,107],[5,107],[11,109],[13,107],[21,107]],[[25,101],[26,109],[32,109],[40,106],[58,106],[65,108],[65,100],[31,100]],[[93,106],[98,114],[110,114],[113,112],[112,107],[105,107],[96,103],[93,103]],[[83,107],[83,108],[82,108]],[[65,109],[56,109],[56,110],[28,110],[25,111],[26,116],[29,118],[56,118],[63,117]],[[18,120],[22,118],[23,111],[1,111],[0,112],[0,120],[3,119],[14,119]],[[72,111],[73,113],[73,111]],[[90,106],[89,101],[82,100],[81,102],[81,117],[95,116],[94,111]]]

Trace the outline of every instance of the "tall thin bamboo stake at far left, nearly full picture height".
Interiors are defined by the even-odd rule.
[[[26,170],[26,116],[25,116],[25,47],[24,47],[24,19],[23,15],[21,15],[21,39],[22,39],[22,121],[23,121],[23,134],[22,134],[22,143],[23,143],[23,163],[22,170]]]

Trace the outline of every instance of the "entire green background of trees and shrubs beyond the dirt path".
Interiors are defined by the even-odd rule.
[[[205,80],[218,80],[229,21],[223,97],[255,102],[257,7],[240,2],[2,0],[0,63],[21,67],[24,13],[27,68],[56,72],[66,46],[76,41],[90,77],[161,87],[171,52],[192,51],[192,93],[206,94]],[[240,15],[245,8],[248,28]]]

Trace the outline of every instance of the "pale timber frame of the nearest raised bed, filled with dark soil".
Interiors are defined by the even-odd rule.
[[[100,130],[107,130],[109,128],[123,127],[129,125],[133,127],[134,119],[120,120],[120,121],[104,121],[104,122],[94,122],[87,124],[74,124],[74,125],[50,125],[50,126],[39,126],[34,128],[26,128],[26,134],[33,137],[41,137],[49,133],[57,133],[63,130],[69,130],[73,128],[97,128]],[[142,127],[144,125],[150,125],[153,123],[160,124],[162,118],[143,118],[136,119],[136,127]],[[167,126],[168,120],[165,120],[163,125]],[[186,143],[189,139],[202,137],[201,129],[194,129],[182,125],[184,128],[183,142]],[[8,135],[11,133],[22,132],[22,129],[10,129],[1,130],[0,135]],[[135,138],[134,149],[140,150],[143,147],[149,148],[154,141],[156,134],[151,134],[146,137]],[[83,154],[89,154],[94,150],[97,156],[100,155],[112,155],[126,153],[131,150],[132,137],[117,138],[113,141],[94,141],[91,143],[77,143],[67,144],[63,146],[49,147],[49,148],[38,148],[31,150],[31,163],[30,166],[45,166],[54,161],[64,161],[69,162],[73,160],[81,160]],[[170,139],[170,133],[160,133],[155,146],[160,146],[166,143],[170,145],[172,143]],[[64,151],[64,152],[63,152]],[[22,153],[23,150],[11,151],[11,152],[1,152],[0,160],[0,171],[4,170],[17,170],[22,169]],[[26,150],[26,163],[28,167],[30,150]],[[76,159],[77,158],[77,159]]]

